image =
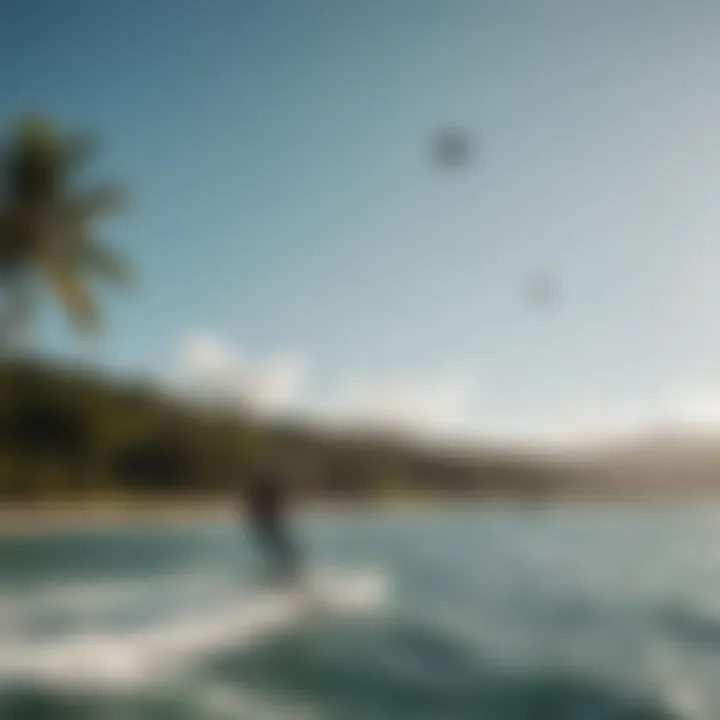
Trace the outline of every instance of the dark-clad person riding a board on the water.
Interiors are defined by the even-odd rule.
[[[275,579],[297,578],[299,555],[288,521],[289,500],[283,478],[263,469],[252,479],[247,497],[252,533],[261,551],[269,559]]]

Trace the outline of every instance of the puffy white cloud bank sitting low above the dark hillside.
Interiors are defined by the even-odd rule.
[[[459,374],[363,379],[311,398],[309,362],[297,353],[248,360],[229,342],[195,332],[182,342],[174,386],[198,400],[244,404],[268,415],[292,413],[323,424],[410,431],[423,436],[466,434],[472,427],[475,383]]]

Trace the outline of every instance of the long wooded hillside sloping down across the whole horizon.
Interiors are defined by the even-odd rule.
[[[720,490],[720,441],[688,433],[566,455],[443,449],[261,422],[77,367],[0,366],[0,499],[227,496],[261,456],[281,460],[298,494],[313,498],[525,502]]]

